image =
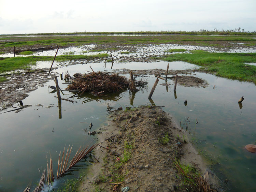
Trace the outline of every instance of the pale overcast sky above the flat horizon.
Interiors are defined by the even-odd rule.
[[[256,31],[256,0],[0,0],[0,34]]]

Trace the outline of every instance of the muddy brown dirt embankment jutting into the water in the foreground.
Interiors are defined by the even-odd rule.
[[[143,106],[114,113],[113,122],[99,135],[95,150],[99,163],[89,170],[81,191],[191,191],[182,183],[175,160],[209,173],[211,180],[199,154],[162,108]],[[166,134],[169,141],[164,144]]]

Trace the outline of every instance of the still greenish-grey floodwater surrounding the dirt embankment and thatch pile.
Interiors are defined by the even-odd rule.
[[[41,63],[43,64],[43,63]],[[47,63],[45,63],[47,65]],[[48,65],[51,65],[48,63]],[[111,63],[77,64],[55,69],[59,73],[110,71]],[[167,62],[155,63],[115,63],[113,69],[164,69]],[[191,69],[195,65],[185,62],[170,62],[169,69]],[[207,160],[210,169],[224,182],[228,179],[227,191],[254,191],[255,183],[255,155],[245,150],[245,145],[255,144],[255,108],[256,87],[252,83],[228,80],[205,73],[193,73],[196,77],[207,80],[209,87],[183,87],[177,85],[175,99],[173,89],[158,83],[152,99],[156,105],[165,106],[163,110],[169,112],[177,124],[186,130],[189,141],[193,141],[198,152]],[[139,77],[137,77],[139,78]],[[61,119],[58,109],[56,93],[48,86],[55,86],[50,81],[44,87],[31,92],[23,100],[24,105],[31,105],[19,113],[9,112],[0,114],[0,191],[23,191],[28,185],[32,188],[40,180],[42,169],[47,165],[46,155],[50,153],[53,159],[53,169],[56,175],[58,154],[69,145],[73,145],[72,154],[80,145],[94,144],[95,136],[88,135],[89,124],[93,123],[90,131],[98,130],[105,125],[108,113],[107,103],[113,107],[149,105],[150,92],[155,77],[148,77],[148,89],[137,92],[131,98],[129,91],[112,97],[91,100],[90,96],[73,98],[77,103],[62,101]],[[67,87],[65,82],[59,81],[61,89]],[[169,80],[173,87],[173,81]],[[70,97],[69,92],[63,91]],[[238,100],[244,96],[242,108]],[[89,99],[89,100],[88,100]],[[115,101],[117,100],[117,101]],[[187,100],[187,106],[184,101]],[[43,106],[39,106],[41,104]],[[14,105],[18,107],[18,104]],[[10,108],[9,110],[11,110]],[[196,124],[196,120],[199,122]],[[189,121],[189,122],[188,122]],[[86,132],[87,130],[87,132]],[[80,168],[86,168],[89,163],[81,162]],[[39,172],[40,170],[40,172]],[[61,185],[63,180],[76,177],[78,171],[54,182],[54,187]]]

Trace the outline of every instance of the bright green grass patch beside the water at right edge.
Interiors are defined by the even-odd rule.
[[[253,82],[256,84],[256,66],[244,64],[255,62],[256,53],[209,53],[190,51],[193,54],[173,54],[163,57],[165,61],[186,61],[200,65],[200,70],[216,76]]]

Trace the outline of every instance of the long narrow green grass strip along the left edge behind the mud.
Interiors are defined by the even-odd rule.
[[[104,58],[108,54],[97,54],[97,55],[61,55],[57,56],[55,61],[67,61],[76,59],[94,59]],[[35,65],[36,61],[52,61],[54,57],[51,56],[28,56],[28,57],[12,57],[4,58],[0,60],[0,73],[6,71],[12,71],[17,69],[30,69],[31,65]]]

